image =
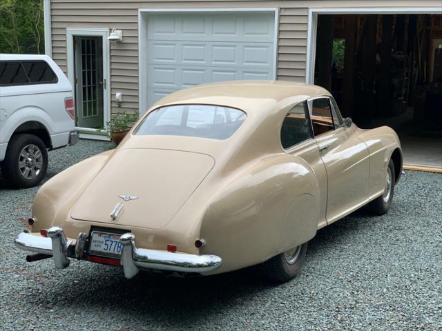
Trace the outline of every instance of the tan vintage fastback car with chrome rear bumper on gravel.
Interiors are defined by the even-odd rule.
[[[396,133],[342,119],[323,88],[211,83],[164,97],[115,150],[45,183],[15,243],[28,261],[122,265],[128,279],[260,264],[288,281],[318,229],[367,204],[387,212],[401,169]]]

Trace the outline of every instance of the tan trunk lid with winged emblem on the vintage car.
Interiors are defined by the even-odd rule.
[[[163,228],[180,210],[215,161],[178,150],[117,150],[75,204],[73,219]],[[118,203],[123,207],[113,219]],[[115,215],[114,215],[115,216]]]

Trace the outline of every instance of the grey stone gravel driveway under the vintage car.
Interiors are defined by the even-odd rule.
[[[108,148],[50,152],[48,177]],[[253,269],[128,281],[111,266],[26,263],[12,240],[36,192],[0,182],[0,330],[442,330],[442,174],[407,172],[387,215],[320,230],[300,276],[282,285]]]

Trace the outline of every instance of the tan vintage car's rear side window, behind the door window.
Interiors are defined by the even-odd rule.
[[[281,145],[285,150],[313,138],[308,112],[307,101],[304,101],[291,108],[285,116],[281,126]]]

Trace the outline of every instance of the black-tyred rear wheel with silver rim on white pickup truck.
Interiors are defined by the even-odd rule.
[[[39,137],[33,134],[15,134],[8,142],[1,173],[6,183],[14,188],[32,188],[38,185],[48,170],[48,151]]]

